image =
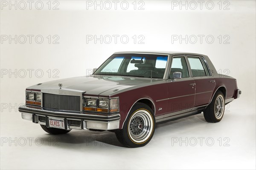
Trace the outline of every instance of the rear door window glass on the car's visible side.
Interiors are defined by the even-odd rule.
[[[188,57],[190,68],[192,71],[193,77],[202,77],[206,76],[204,66],[198,57]]]

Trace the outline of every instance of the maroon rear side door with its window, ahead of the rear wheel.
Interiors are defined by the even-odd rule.
[[[211,100],[215,79],[202,56],[186,56],[191,75],[195,80],[195,107],[208,104]]]

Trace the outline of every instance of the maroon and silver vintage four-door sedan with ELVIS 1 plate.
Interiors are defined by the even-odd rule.
[[[206,55],[116,52],[90,76],[26,88],[22,118],[50,134],[109,130],[127,147],[151,140],[155,124],[204,112],[221,121],[239,98],[236,79],[217,73]]]

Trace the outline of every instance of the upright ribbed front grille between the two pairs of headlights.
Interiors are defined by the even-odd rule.
[[[43,107],[80,111],[80,96],[43,93]]]

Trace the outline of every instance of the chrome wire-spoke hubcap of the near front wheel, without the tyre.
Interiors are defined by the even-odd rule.
[[[150,113],[147,111],[141,110],[135,113],[129,122],[129,134],[132,140],[136,142],[146,140],[152,131],[152,123]]]

